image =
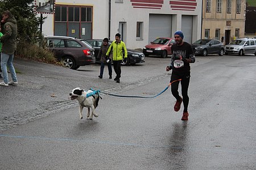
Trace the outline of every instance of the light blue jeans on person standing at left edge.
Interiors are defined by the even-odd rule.
[[[11,78],[13,79],[13,82],[18,81],[15,73],[15,69],[13,66],[13,58],[14,58],[14,54],[1,53],[1,68],[3,73],[3,82],[5,83],[9,82],[7,66],[9,67],[9,70],[11,72]]]

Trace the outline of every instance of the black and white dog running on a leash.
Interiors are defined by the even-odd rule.
[[[92,90],[85,91],[80,89],[80,87],[74,88],[72,92],[69,94],[71,100],[77,100],[79,102],[79,114],[80,118],[82,118],[82,109],[84,107],[88,108],[88,112],[86,117],[92,120],[93,116],[98,117],[96,114],[95,109],[98,106],[98,101],[100,100],[101,96],[99,94],[95,94],[89,97],[86,97],[86,94],[93,92]],[[92,113],[90,114],[90,108],[92,109]]]

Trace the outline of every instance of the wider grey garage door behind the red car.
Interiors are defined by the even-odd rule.
[[[150,14],[148,42],[154,41],[157,37],[171,37],[172,15]]]

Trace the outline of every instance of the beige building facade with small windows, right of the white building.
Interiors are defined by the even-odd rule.
[[[204,0],[202,39],[221,40],[225,45],[245,37],[246,0]]]

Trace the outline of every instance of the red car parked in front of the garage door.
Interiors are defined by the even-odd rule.
[[[162,37],[152,41],[144,46],[143,53],[145,56],[155,55],[166,58],[171,55],[171,46],[175,44],[174,38]]]

